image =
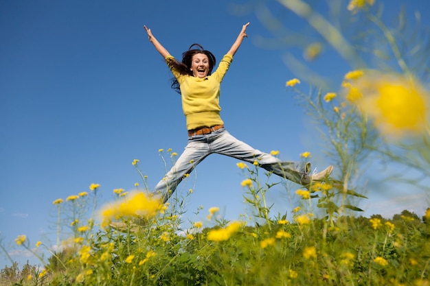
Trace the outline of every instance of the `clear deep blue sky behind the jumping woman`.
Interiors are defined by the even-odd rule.
[[[315,5],[324,10],[322,2]],[[408,15],[420,10],[429,25],[428,0],[383,2],[392,16],[407,3]],[[200,43],[220,60],[251,22],[222,85],[227,130],[264,152],[279,150],[282,159],[299,160],[308,151],[315,167],[330,163],[318,131],[285,86],[297,77],[282,60],[293,42],[264,49],[271,42],[261,38],[273,38],[260,21],[266,6],[237,10],[232,3],[247,1],[0,0],[0,239],[12,259],[37,263],[14,246],[18,235],[27,235],[32,245],[55,243],[54,200],[89,191],[92,182],[101,185],[103,201],[113,198],[113,189],[142,185],[131,165],[135,158],[155,187],[165,173],[158,150],[180,154],[185,147],[180,97],[143,25],[177,58]],[[304,21],[275,1],[267,3],[285,27],[306,31]],[[291,53],[299,55],[297,47]],[[339,84],[350,67],[328,56],[315,69],[328,70]],[[236,163],[212,155],[179,186],[180,195],[194,189],[185,219],[202,220],[205,215],[194,216],[199,206],[219,206],[227,219],[244,213],[245,176]],[[422,214],[426,207],[419,192],[367,195],[360,204],[365,215],[390,216],[405,208]],[[268,200],[273,215],[295,206],[282,186]],[[0,267],[6,264],[0,254]]]

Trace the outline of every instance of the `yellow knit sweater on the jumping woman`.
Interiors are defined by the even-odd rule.
[[[166,60],[173,58],[167,56]],[[219,105],[220,84],[232,60],[233,56],[226,54],[216,71],[206,78],[181,75],[169,65],[181,87],[182,110],[187,119],[187,130],[223,124]]]

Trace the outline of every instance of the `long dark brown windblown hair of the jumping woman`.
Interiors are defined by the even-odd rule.
[[[194,47],[194,49],[192,49],[192,47]],[[195,47],[197,47],[197,49]],[[181,75],[192,75],[192,56],[197,53],[203,53],[207,56],[207,59],[209,60],[209,71],[207,72],[207,75],[210,75],[212,73],[212,69],[214,69],[214,66],[216,64],[216,58],[213,53],[203,49],[203,47],[199,44],[192,44],[188,51],[182,53],[182,62],[178,62],[177,60],[170,60],[168,64],[170,64],[173,69],[178,71]],[[172,79],[172,88],[177,91],[177,93],[181,94],[179,82],[176,78]]]

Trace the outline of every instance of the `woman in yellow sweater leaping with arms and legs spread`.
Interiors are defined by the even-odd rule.
[[[304,186],[312,181],[322,180],[332,172],[333,167],[330,165],[324,171],[309,174],[310,163],[282,161],[239,141],[225,129],[220,117],[220,84],[242,40],[247,38],[248,26],[249,23],[243,25],[238,38],[213,73],[216,59],[210,51],[199,44],[191,45],[179,62],[159,43],[151,30],[144,26],[148,40],[166,60],[174,75],[172,88],[181,94],[188,130],[188,144],[184,152],[152,192],[161,196],[163,202],[168,200],[185,175],[190,174],[196,165],[212,153],[251,164],[257,162],[259,167]]]

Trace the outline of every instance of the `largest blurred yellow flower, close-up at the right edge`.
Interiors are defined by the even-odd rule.
[[[347,99],[373,119],[382,134],[399,137],[426,131],[430,94],[413,78],[369,71],[343,86]]]

